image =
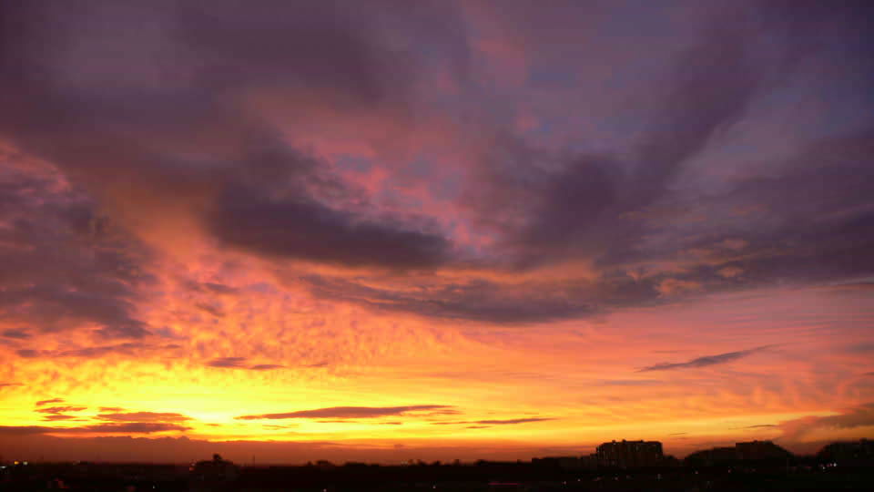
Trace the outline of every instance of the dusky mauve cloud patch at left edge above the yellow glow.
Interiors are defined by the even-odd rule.
[[[30,327],[7,329],[5,337],[86,327],[104,338],[149,333],[134,313],[137,287],[149,280],[139,274],[147,251],[101,217],[83,190],[56,169],[9,166],[0,193],[9,224],[0,228],[0,313]]]

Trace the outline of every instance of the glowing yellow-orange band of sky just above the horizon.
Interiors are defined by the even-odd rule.
[[[292,288],[280,291],[238,275],[237,282],[222,283],[234,293],[211,296],[209,311],[200,306],[208,297],[202,292],[162,288],[166,297],[146,304],[144,313],[150,325],[173,333],[176,340],[164,345],[106,343],[107,353],[94,356],[76,354],[79,342],[72,335],[46,336],[42,350],[52,355],[21,358],[5,368],[4,379],[22,385],[2,390],[4,425],[50,426],[56,432],[46,431],[49,436],[88,437],[128,429],[109,425],[146,423],[172,427],[140,436],[507,446],[521,449],[520,456],[531,449],[584,450],[615,438],[647,438],[682,454],[711,443],[780,439],[798,419],[841,415],[864,404],[869,388],[857,373],[859,361],[831,360],[831,373],[818,374],[821,356],[828,359],[818,333],[839,323],[841,310],[854,302],[828,289],[715,296],[615,313],[595,323],[494,328],[342,302],[325,309],[304,293],[288,293]],[[767,323],[745,321],[746,313],[763,306],[772,313]],[[750,347],[739,364],[642,371]],[[819,362],[808,357],[810,351],[820,352]],[[842,386],[829,383],[838,378]],[[35,405],[55,398],[63,401]],[[824,406],[824,400],[837,404]],[[327,410],[270,418],[317,409]],[[55,415],[63,416],[51,420]],[[91,425],[93,431],[83,429]],[[798,442],[788,444],[829,435],[828,428],[813,431],[793,435]]]

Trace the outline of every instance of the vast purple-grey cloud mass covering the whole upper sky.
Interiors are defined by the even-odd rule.
[[[822,77],[804,77],[808,65],[835,57],[844,67],[860,65],[858,36],[849,33],[862,15],[849,15],[849,7],[810,16],[785,5],[724,5],[689,11],[683,26],[651,15],[641,22],[673,36],[642,57],[584,28],[598,15],[558,7],[507,8],[485,22],[476,9],[444,2],[416,9],[222,2],[210,15],[190,5],[117,4],[92,5],[87,20],[50,3],[0,12],[11,33],[0,50],[7,108],[0,134],[57,167],[49,178],[18,173],[5,183],[4,195],[12,197],[6,207],[33,226],[13,228],[11,239],[65,245],[56,260],[43,246],[0,253],[20,273],[4,313],[38,331],[98,323],[97,333],[107,338],[164,333],[136,309],[137,294],[152,280],[142,272],[155,261],[144,239],[162,228],[293,265],[295,276],[301,262],[342,267],[340,273],[314,267],[323,278],[303,281],[329,300],[484,323],[582,318],[699,292],[874,269],[864,254],[874,241],[871,202],[860,184],[871,173],[862,164],[870,155],[869,119],[859,118],[858,128],[794,131],[805,135],[791,143],[795,152],[750,166],[760,172],[732,155],[767,150],[778,139],[757,124],[763,112],[777,111],[762,104],[777,91],[800,84],[802,93],[819,94],[839,86],[809,82]],[[621,7],[606,12],[626,15]],[[50,35],[46,22],[54,26]],[[519,50],[513,58],[520,87],[504,87],[507,74],[491,71],[503,59],[494,48],[501,43],[483,45],[483,22],[516,33],[503,49]],[[822,46],[802,35],[814,28],[828,33]],[[249,33],[244,42],[240,32]],[[774,49],[760,49],[764,44]],[[321,46],[320,56],[302,46]],[[605,93],[594,82],[603,57],[624,67],[605,78],[643,82]],[[585,76],[567,59],[581,60]],[[867,73],[831,78],[851,82]],[[437,78],[453,87],[451,97],[430,85]],[[483,88],[486,79],[503,89]],[[856,86],[863,84],[849,84]],[[858,88],[838,92],[870,100]],[[514,114],[513,102],[523,94],[531,98],[526,109],[549,122],[557,142],[506,125],[523,116]],[[550,104],[549,94],[574,103]],[[591,122],[575,119],[580,114],[604,121],[589,128]],[[587,129],[577,135],[573,128]],[[737,134],[751,141],[737,143]],[[379,173],[351,178],[333,158],[356,151],[339,150],[345,142],[332,135],[351,140],[367,156],[350,159],[372,160]],[[100,141],[100,149],[82,143],[89,141]],[[461,155],[443,155],[447,148]],[[442,183],[442,168],[450,169],[451,183]],[[53,179],[70,186],[53,186]],[[136,192],[122,184],[130,182]],[[446,196],[462,205],[446,207]],[[761,211],[738,218],[732,210]],[[692,213],[707,220],[690,220]],[[75,241],[91,235],[99,241]],[[712,246],[718,258],[691,261],[680,273],[652,272],[694,246]],[[57,264],[42,269],[45,261]],[[523,286],[495,281],[574,261],[591,271]],[[370,269],[466,275],[469,268],[482,278],[472,273],[445,282],[426,274],[406,288],[373,287],[368,278]],[[645,274],[635,282],[618,273],[638,269]],[[50,282],[49,271],[64,272],[58,278],[65,285]],[[191,288],[239,293],[218,282]],[[209,302],[199,307],[228,314]]]

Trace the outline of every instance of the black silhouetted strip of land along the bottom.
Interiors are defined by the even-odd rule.
[[[8,466],[0,490],[391,491],[391,490],[874,490],[871,466],[674,466],[562,470],[531,463],[427,466],[247,466],[205,476],[189,466],[29,464]]]

